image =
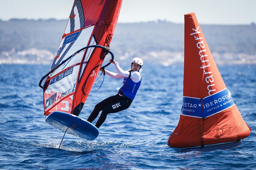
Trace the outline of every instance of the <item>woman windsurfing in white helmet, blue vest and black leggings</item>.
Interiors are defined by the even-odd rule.
[[[109,62],[111,62],[111,60]],[[94,119],[96,119],[102,110],[100,118],[95,124],[97,128],[102,125],[109,113],[120,112],[130,107],[142,80],[141,73],[139,71],[143,65],[142,59],[138,57],[133,58],[131,62],[132,69],[127,71],[121,69],[115,60],[113,60],[112,63],[115,64],[117,73],[113,73],[108,70],[105,70],[105,72],[112,78],[124,78],[123,86],[118,90],[116,95],[102,100],[94,107],[94,110],[92,111],[87,121],[94,121]]]

